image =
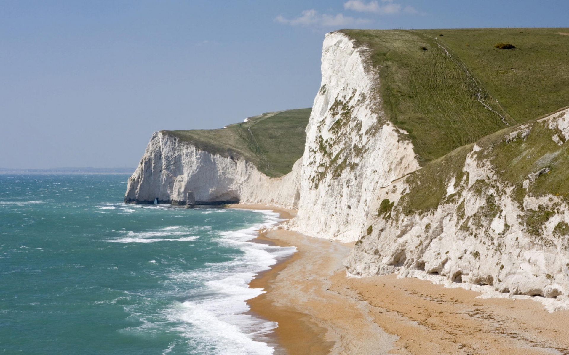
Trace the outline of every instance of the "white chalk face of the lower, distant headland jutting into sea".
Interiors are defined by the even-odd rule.
[[[269,203],[296,208],[302,158],[291,173],[269,178],[240,157],[211,154],[156,132],[130,177],[125,202]]]

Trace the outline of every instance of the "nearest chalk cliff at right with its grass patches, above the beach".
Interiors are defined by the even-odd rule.
[[[569,204],[557,185],[567,174],[568,139],[564,110],[459,148],[431,170],[380,189],[369,233],[345,262],[348,273],[439,275],[513,295],[566,295]],[[413,199],[427,191],[441,191],[440,201],[421,210]]]

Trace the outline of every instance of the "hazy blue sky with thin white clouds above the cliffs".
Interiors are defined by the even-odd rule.
[[[341,28],[567,14],[567,0],[0,0],[0,168],[134,168],[152,132],[311,107],[324,35]]]

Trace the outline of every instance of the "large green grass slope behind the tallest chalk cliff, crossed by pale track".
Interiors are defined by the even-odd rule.
[[[342,32],[372,49],[387,118],[423,164],[569,105],[564,28]]]

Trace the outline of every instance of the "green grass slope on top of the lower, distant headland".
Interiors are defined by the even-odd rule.
[[[267,112],[219,130],[162,131],[197,148],[225,157],[242,157],[270,177],[290,173],[302,157],[312,108]]]

